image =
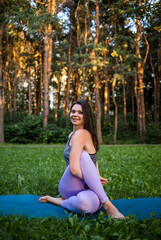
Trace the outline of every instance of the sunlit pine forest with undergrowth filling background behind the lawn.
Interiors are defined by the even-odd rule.
[[[71,103],[99,143],[161,143],[160,0],[1,0],[0,143],[64,143]]]

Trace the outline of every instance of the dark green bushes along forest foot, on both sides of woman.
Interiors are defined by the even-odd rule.
[[[49,116],[47,129],[43,129],[43,116],[23,116],[17,114],[12,123],[9,117],[5,117],[5,141],[7,143],[65,143],[69,133],[72,131],[72,125],[68,116],[62,116],[62,112],[58,113],[58,120],[55,121],[53,115]],[[139,144],[141,139],[137,134],[136,123],[133,123],[130,113],[127,114],[127,131],[125,131],[124,120],[119,116],[117,143],[119,144]],[[113,144],[114,119],[111,122],[102,121],[102,134],[104,144]],[[158,128],[147,123],[146,143],[161,143],[161,125]]]

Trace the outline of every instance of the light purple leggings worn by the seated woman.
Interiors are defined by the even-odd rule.
[[[94,213],[99,209],[100,204],[108,200],[108,197],[96,166],[86,151],[81,153],[80,167],[83,179],[72,175],[68,166],[60,180],[59,192],[65,199],[61,206],[78,214]]]

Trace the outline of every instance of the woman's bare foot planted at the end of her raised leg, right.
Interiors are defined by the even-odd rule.
[[[118,209],[111,203],[110,200],[103,204],[105,213],[112,219],[125,219],[125,216],[118,211]]]

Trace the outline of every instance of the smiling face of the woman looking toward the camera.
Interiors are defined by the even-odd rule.
[[[84,128],[84,117],[82,106],[80,104],[75,104],[70,111],[71,123],[77,128]]]

